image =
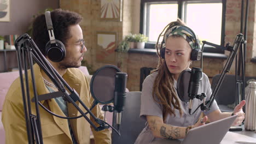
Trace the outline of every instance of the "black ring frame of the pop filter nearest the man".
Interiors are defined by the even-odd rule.
[[[113,99],[111,99],[109,101],[101,101],[101,100],[98,100],[98,98],[96,98],[95,94],[94,94],[93,84],[94,84],[95,77],[97,76],[98,73],[100,73],[102,70],[104,70],[106,68],[113,68],[117,72],[121,72],[121,70],[118,67],[116,67],[115,65],[104,65],[100,69],[96,70],[95,74],[92,75],[91,82],[90,82],[90,92],[91,92],[91,96],[94,98],[94,105],[96,105],[98,103],[100,103],[100,104],[109,104],[109,103],[112,103],[113,100],[114,100],[114,95],[113,95]],[[115,77],[113,77],[113,78],[115,79]],[[114,92],[114,89],[113,89],[113,92]],[[92,106],[92,107],[94,107],[94,106]]]

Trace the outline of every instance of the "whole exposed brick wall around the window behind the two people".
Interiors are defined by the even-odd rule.
[[[246,76],[256,76],[253,71],[256,70],[255,64],[250,62],[253,56],[256,56],[256,31],[255,31],[255,1],[249,1],[249,19],[247,36],[247,57],[246,57]],[[139,4],[138,0],[123,0],[123,21],[107,21],[100,19],[100,0],[60,0],[60,7],[76,11],[84,17],[81,23],[84,39],[86,41],[85,59],[93,65],[96,70],[106,64],[118,65],[122,71],[128,74],[127,87],[130,91],[139,91],[139,69],[141,67],[155,68],[158,64],[156,55],[147,55],[139,53],[115,53],[114,63],[104,63],[96,61],[96,43],[97,31],[116,32],[118,34],[118,43],[130,32],[138,33],[139,27]],[[226,3],[226,21],[225,21],[225,43],[234,41],[236,34],[240,33],[241,20],[241,0],[227,0]],[[228,55],[228,52],[226,52]],[[216,74],[221,73],[226,61],[218,58],[204,58],[203,72],[211,80]],[[193,62],[192,67],[200,67],[200,62]],[[235,64],[232,65],[229,74],[234,74]]]

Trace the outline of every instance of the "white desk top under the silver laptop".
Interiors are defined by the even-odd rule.
[[[255,131],[235,131],[231,132],[228,131],[226,135],[224,136],[222,142],[220,144],[237,144],[236,141],[247,141],[247,142],[256,142],[256,133]],[[180,144],[181,140],[167,140],[167,139],[161,139],[158,141],[152,142],[152,144]],[[195,144],[195,143],[193,143]],[[199,144],[199,143],[198,143]]]

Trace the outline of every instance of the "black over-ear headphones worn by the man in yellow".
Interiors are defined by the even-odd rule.
[[[53,62],[60,62],[66,56],[65,45],[54,37],[53,22],[51,21],[50,11],[45,11],[45,20],[50,40],[45,46],[45,53]]]

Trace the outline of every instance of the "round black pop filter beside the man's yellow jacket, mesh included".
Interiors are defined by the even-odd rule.
[[[114,65],[104,65],[92,76],[90,91],[97,103],[109,104],[113,102],[115,74],[120,71],[121,70]]]

